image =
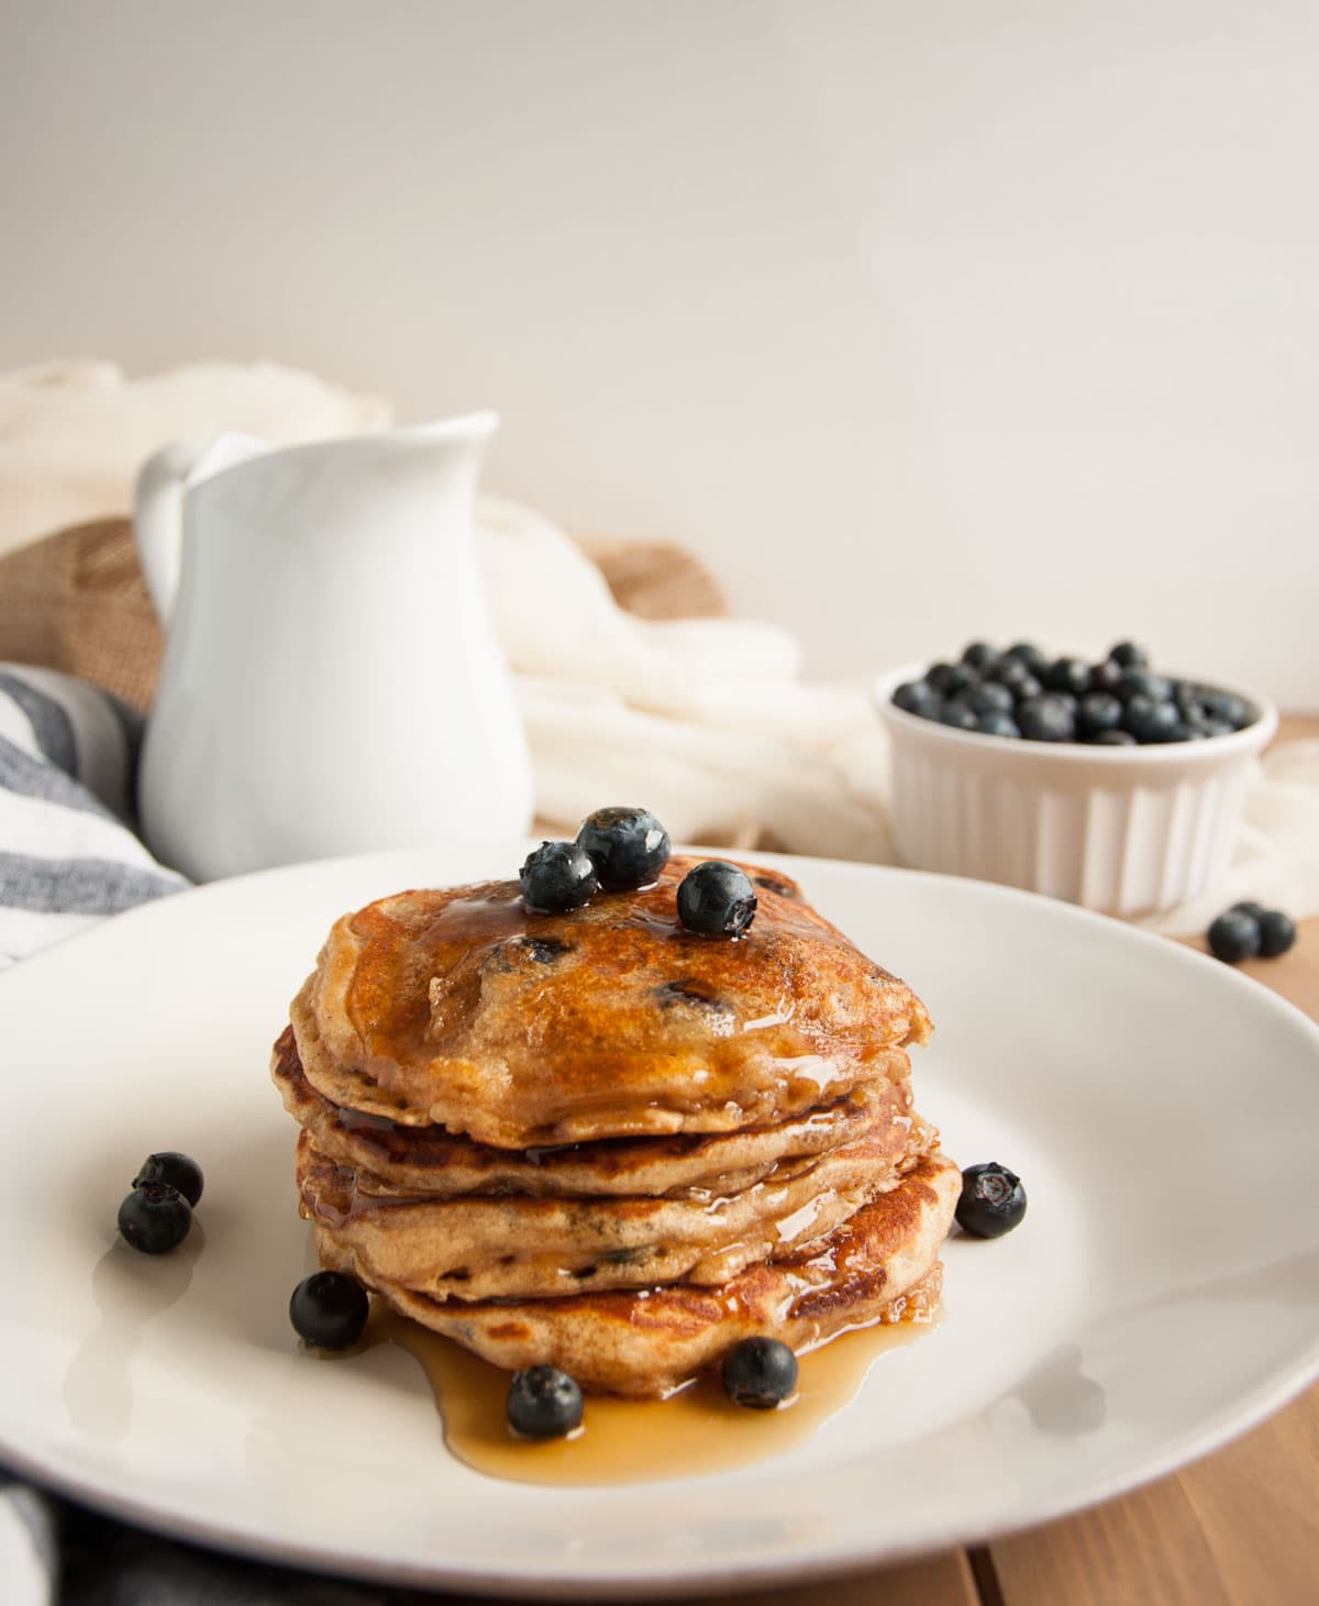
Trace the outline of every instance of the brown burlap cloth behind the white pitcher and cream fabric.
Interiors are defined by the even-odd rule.
[[[725,612],[709,572],[662,543],[582,538],[619,604],[641,618]],[[59,530],[0,557],[0,662],[77,675],[148,708],[164,634],[127,519]]]

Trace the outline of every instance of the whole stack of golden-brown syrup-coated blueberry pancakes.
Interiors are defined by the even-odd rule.
[[[933,1310],[961,1188],[914,1113],[929,1015],[778,872],[737,940],[655,885],[344,915],[273,1076],[321,1262],[501,1367],[665,1394],[742,1338]]]

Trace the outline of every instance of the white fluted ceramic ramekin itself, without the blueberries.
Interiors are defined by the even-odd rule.
[[[1231,736],[1154,747],[1023,742],[919,719],[892,702],[922,668],[876,681],[905,864],[972,875],[1105,914],[1194,898],[1227,867],[1252,764],[1277,710]]]

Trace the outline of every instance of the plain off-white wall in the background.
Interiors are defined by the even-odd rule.
[[[0,3],[0,366],[275,357],[856,671],[1319,707],[1314,0]]]

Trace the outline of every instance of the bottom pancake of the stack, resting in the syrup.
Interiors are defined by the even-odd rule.
[[[922,1158],[887,1193],[824,1238],[747,1267],[718,1288],[668,1283],[641,1293],[564,1299],[431,1299],[378,1285],[387,1304],[498,1367],[562,1367],[598,1392],[664,1396],[717,1365],[742,1338],[778,1338],[797,1352],[874,1322],[929,1315],[938,1304],[938,1249],[961,1192],[941,1153]],[[321,1261],[355,1270],[352,1251],[318,1232]]]

